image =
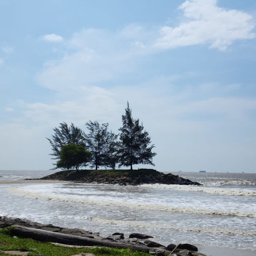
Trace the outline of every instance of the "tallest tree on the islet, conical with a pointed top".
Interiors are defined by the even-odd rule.
[[[119,143],[119,167],[130,166],[132,170],[133,164],[153,164],[152,158],[156,153],[152,152],[153,145],[151,143],[148,132],[144,130],[143,125],[139,123],[139,119],[132,117],[132,110],[127,102],[125,114],[122,115],[123,126],[120,130]]]

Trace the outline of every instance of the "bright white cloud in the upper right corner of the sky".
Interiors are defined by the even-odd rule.
[[[179,9],[184,12],[184,21],[176,27],[163,26],[156,47],[209,44],[210,48],[225,50],[236,40],[256,37],[251,15],[220,8],[216,0],[187,0]]]

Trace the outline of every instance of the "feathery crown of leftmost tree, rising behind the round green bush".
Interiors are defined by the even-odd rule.
[[[65,122],[60,123],[60,126],[54,129],[54,135],[51,138],[46,138],[52,146],[52,159],[60,159],[60,150],[63,146],[74,143],[76,146],[85,146],[84,132],[71,123],[68,126]]]

